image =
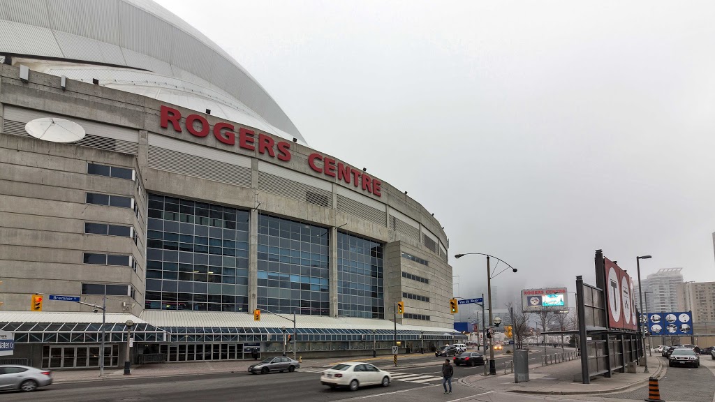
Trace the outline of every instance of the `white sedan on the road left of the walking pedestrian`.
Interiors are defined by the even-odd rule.
[[[357,391],[361,386],[380,384],[383,387],[389,386],[392,377],[387,371],[368,363],[345,362],[339,363],[320,376],[320,383],[330,388],[347,387],[350,391]]]

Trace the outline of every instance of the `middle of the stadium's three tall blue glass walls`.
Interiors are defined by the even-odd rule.
[[[329,235],[325,227],[258,217],[258,308],[330,315]]]

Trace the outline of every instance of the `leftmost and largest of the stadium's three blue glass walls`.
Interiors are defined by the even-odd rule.
[[[147,309],[248,310],[250,214],[149,195]]]

